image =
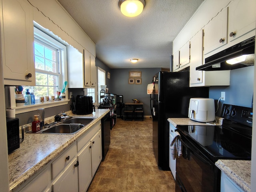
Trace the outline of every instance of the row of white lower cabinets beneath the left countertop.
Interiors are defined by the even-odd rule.
[[[100,122],[15,191],[86,192],[102,160]]]

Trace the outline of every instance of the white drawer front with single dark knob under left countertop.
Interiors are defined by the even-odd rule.
[[[66,168],[68,164],[76,156],[76,143],[63,152],[54,162],[52,162],[52,179],[54,179],[61,170]]]

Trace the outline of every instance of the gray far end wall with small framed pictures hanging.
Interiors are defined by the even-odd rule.
[[[123,95],[124,103],[138,99],[144,104],[144,115],[150,115],[150,95],[147,94],[147,85],[152,82],[152,77],[161,68],[129,68],[111,70],[111,87],[109,92]],[[129,72],[141,71],[142,84],[128,84]]]

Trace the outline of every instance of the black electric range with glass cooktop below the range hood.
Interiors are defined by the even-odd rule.
[[[251,159],[252,108],[224,104],[221,116],[222,126],[176,127],[183,146],[182,157],[176,159],[176,192],[218,192],[215,162]]]

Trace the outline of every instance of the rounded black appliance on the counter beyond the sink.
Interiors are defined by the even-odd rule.
[[[95,112],[95,106],[92,102],[92,96],[77,95],[76,96],[76,114],[87,115]]]

